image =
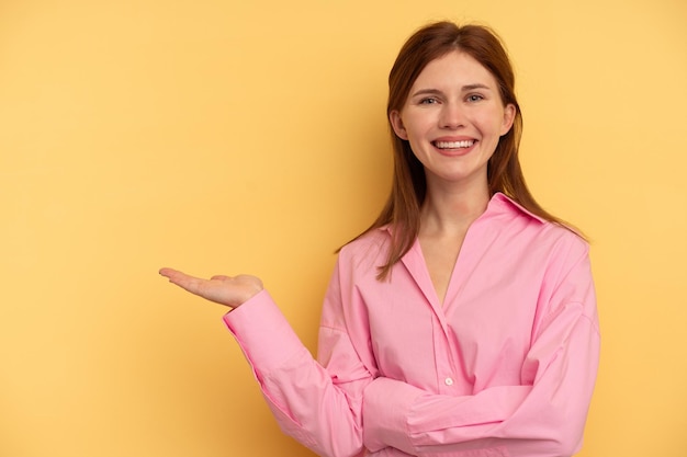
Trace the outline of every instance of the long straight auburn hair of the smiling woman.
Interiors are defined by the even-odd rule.
[[[487,163],[489,195],[504,193],[530,213],[551,222],[570,228],[561,219],[545,212],[536,201],[525,183],[518,159],[522,135],[522,114],[515,95],[515,73],[508,55],[492,30],[483,25],[459,26],[452,22],[436,22],[418,30],[403,45],[388,75],[387,119],[392,111],[401,111],[413,83],[430,61],[446,54],[460,50],[472,56],[496,79],[504,105],[513,104],[516,110],[510,130],[500,137],[494,155]],[[356,239],[391,225],[392,240],[386,263],[380,265],[378,279],[383,281],[393,265],[405,255],[420,229],[420,207],[427,193],[423,164],[413,153],[410,144],[390,133],[394,155],[394,173],[388,199],[376,220]],[[573,230],[577,232],[576,230]]]

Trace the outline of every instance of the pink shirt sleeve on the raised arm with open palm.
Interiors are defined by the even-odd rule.
[[[319,332],[320,362],[313,358],[267,292],[224,317],[251,365],[281,430],[320,456],[363,452],[362,391],[372,380],[341,315],[338,274],[326,295]]]

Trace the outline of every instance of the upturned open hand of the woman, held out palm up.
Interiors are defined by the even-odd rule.
[[[250,275],[217,275],[203,279],[172,269],[161,269],[160,275],[191,294],[229,308],[239,307],[263,289],[262,281]]]

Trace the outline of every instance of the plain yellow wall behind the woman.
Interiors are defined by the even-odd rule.
[[[157,275],[260,275],[313,351],[390,179],[386,75],[429,20],[505,38],[541,203],[593,240],[581,456],[687,452],[683,0],[0,2],[0,456],[309,456]]]

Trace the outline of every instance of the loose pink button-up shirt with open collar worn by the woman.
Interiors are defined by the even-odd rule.
[[[322,456],[576,453],[599,328],[588,247],[503,194],[470,227],[444,304],[416,241],[346,245],[315,361],[267,292],[224,318],[281,429]]]

